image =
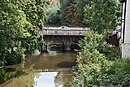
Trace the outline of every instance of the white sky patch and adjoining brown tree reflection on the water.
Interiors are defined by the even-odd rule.
[[[41,72],[34,78],[34,87],[70,87],[72,73]]]

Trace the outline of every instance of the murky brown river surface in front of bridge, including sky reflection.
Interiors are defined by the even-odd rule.
[[[26,63],[21,64],[28,74],[10,79],[0,87],[71,87],[75,58],[74,53],[30,56]],[[29,68],[31,66],[33,69]]]

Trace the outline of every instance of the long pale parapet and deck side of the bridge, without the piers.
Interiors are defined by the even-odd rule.
[[[71,35],[71,36],[84,36],[84,33],[89,31],[89,28],[44,28],[43,35]]]

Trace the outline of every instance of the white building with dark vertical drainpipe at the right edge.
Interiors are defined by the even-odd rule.
[[[121,0],[121,2],[123,3],[122,58],[130,58],[130,0]]]

